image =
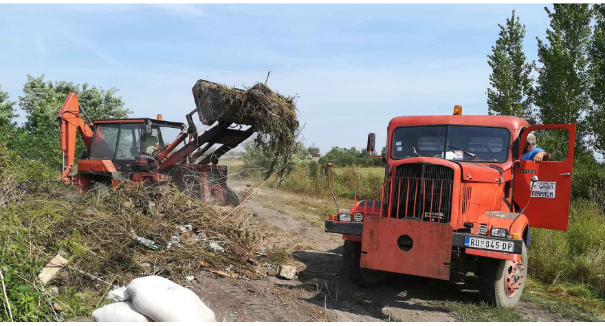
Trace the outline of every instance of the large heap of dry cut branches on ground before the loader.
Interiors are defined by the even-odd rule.
[[[28,242],[19,246],[27,246],[37,258],[45,256],[45,261],[63,254],[72,284],[89,281],[74,272],[78,270],[122,284],[145,274],[179,279],[199,270],[264,274],[267,254],[260,252],[259,238],[243,228],[250,213],[228,215],[232,207],[203,204],[175,186],[124,183],[107,194],[76,195],[61,185],[45,184],[28,191],[14,208],[5,222],[14,236]],[[189,230],[184,231],[185,225]],[[134,235],[154,241],[157,249]]]

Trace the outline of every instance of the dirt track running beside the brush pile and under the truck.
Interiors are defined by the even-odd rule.
[[[234,190],[244,183],[232,183]],[[324,218],[306,208],[301,197],[262,188],[248,203],[256,213],[250,229],[265,236],[265,245],[293,248],[298,279],[274,276],[232,279],[202,273],[186,281],[219,321],[450,321],[448,303],[478,303],[472,278],[440,281],[392,275],[373,289],[353,285],[342,273],[342,238],[323,230]],[[317,199],[313,199],[317,200]],[[470,307],[476,307],[470,305]],[[525,320],[569,320],[522,301],[514,312]],[[473,314],[472,311],[467,312]]]

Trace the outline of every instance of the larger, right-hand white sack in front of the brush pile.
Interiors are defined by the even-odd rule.
[[[154,321],[216,321],[195,293],[162,276],[134,279],[126,287],[135,309]]]

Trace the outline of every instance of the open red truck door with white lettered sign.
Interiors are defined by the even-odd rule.
[[[558,149],[549,161],[534,163],[523,160],[525,140],[529,133],[536,134],[536,146],[553,153],[553,149],[544,148],[553,144]],[[548,133],[558,134],[550,138],[549,144],[540,147],[540,138]],[[564,137],[561,135],[564,134]],[[567,230],[569,220],[569,200],[571,197],[571,177],[573,175],[573,147],[575,144],[575,124],[545,124],[531,126],[519,137],[518,160],[514,164],[513,199],[520,208],[525,208],[529,226],[551,230]],[[564,141],[566,140],[566,143]],[[514,149],[517,151],[517,149]],[[531,177],[538,176],[538,182],[530,189]],[[529,200],[529,203],[528,203]]]

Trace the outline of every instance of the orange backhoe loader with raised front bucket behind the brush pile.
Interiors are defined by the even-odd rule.
[[[181,122],[164,121],[159,114],[156,119],[92,121],[78,96],[69,93],[57,114],[63,152],[59,180],[76,186],[80,193],[94,188],[107,191],[121,182],[148,180],[163,185],[172,181],[205,202],[235,204],[238,198],[227,186],[227,167],[218,165],[218,160],[250,138],[254,123],[237,118],[236,109],[225,105],[212,84],[198,80],[192,88],[196,108],[186,116],[187,128]],[[201,134],[193,122],[195,113],[210,126]],[[78,131],[86,150],[74,165]],[[220,146],[212,150],[215,145]]]

